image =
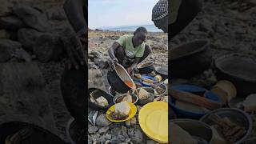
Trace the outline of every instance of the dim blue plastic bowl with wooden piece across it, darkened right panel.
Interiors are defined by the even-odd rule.
[[[181,91],[186,91],[190,92],[193,94],[204,94],[205,98],[208,98],[214,102],[221,102],[221,99],[218,98],[218,95],[210,92],[209,90],[206,90],[205,88],[199,87],[199,86],[193,86],[193,85],[176,85],[176,86],[171,86],[170,90],[181,90]],[[175,113],[178,114],[178,118],[193,118],[193,119],[199,119],[205,114],[208,114],[207,112],[202,112],[202,113],[196,113],[196,112],[191,112],[188,110],[182,110],[179,109],[177,106],[175,106],[175,98],[170,98],[170,106],[174,109]]]

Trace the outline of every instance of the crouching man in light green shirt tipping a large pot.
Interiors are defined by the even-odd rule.
[[[145,43],[146,35],[146,28],[138,27],[134,34],[123,35],[108,50],[113,64],[119,63],[124,66],[132,77],[138,72],[138,63],[142,62],[151,52],[150,46]]]

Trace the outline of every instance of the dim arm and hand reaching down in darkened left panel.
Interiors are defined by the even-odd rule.
[[[68,68],[72,67],[79,69],[80,66],[86,64],[86,46],[87,46],[87,4],[84,0],[66,0],[63,6],[66,17],[70,25],[75,31],[72,34],[70,30],[64,32],[67,36],[62,41],[69,56]]]

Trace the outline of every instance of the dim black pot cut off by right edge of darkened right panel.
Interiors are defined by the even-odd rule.
[[[256,61],[248,55],[228,54],[214,61],[218,80],[234,83],[238,97],[245,98],[256,93]]]

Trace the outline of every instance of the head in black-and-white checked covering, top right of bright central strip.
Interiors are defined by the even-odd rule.
[[[152,10],[152,21],[159,29],[168,33],[168,0],[160,0]]]

